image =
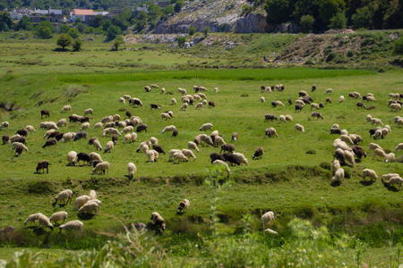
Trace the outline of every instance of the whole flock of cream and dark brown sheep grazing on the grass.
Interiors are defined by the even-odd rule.
[[[151,85],[151,87],[146,86],[144,89],[146,92],[150,92],[153,88],[159,88],[157,85]],[[274,87],[262,87],[262,92],[271,92],[271,90],[277,89],[278,91],[283,91],[285,90],[285,87],[283,85],[279,86],[274,86]],[[178,93],[182,95],[181,101],[183,105],[181,106],[181,110],[186,110],[189,108],[189,106],[193,105],[195,109],[201,109],[204,106],[209,106],[210,108],[215,108],[216,104],[213,101],[207,101],[207,96],[206,93],[201,93],[207,92],[208,89],[204,87],[198,87],[194,86],[193,90],[195,91],[194,95],[189,95],[184,88],[178,88]],[[312,91],[316,90],[316,86],[313,85]],[[161,94],[165,93],[165,88],[161,88]],[[218,93],[219,89],[214,88],[214,92]],[[332,94],[333,90],[331,88],[326,89],[324,94]],[[324,107],[323,103],[316,104],[313,103],[313,98],[309,96],[309,94],[305,91],[300,91],[298,93],[298,98],[294,101],[295,103],[295,113],[301,112],[306,105],[311,107],[312,109],[319,110]],[[361,98],[361,95],[358,92],[351,92],[349,97],[353,98]],[[395,95],[391,94],[389,105],[392,111],[400,111],[401,109],[401,102],[400,98],[403,98],[401,94]],[[367,102],[372,102],[376,101],[374,96],[372,94],[367,94],[366,96],[362,97],[363,100],[366,100]],[[118,98],[118,102],[121,103],[122,105],[125,105],[126,101],[129,103],[129,105],[133,105],[133,107],[140,107],[142,106],[141,99],[132,97],[129,95],[124,95],[122,97]],[[339,96],[339,103],[345,101],[344,96]],[[196,103],[197,102],[197,103]],[[265,102],[265,97],[261,97],[261,102]],[[171,105],[175,107],[176,105],[176,98],[171,99]],[[330,97],[326,97],[326,103],[331,103]],[[291,99],[288,99],[288,105],[293,105],[293,101]],[[271,106],[273,108],[276,108],[278,106],[285,106],[281,101],[272,101]],[[364,104],[361,102],[357,103],[358,107],[363,107]],[[150,110],[152,109],[161,109],[160,105],[157,104],[150,104]],[[62,113],[66,113],[67,111],[72,111],[71,105],[64,105],[62,108]],[[99,152],[104,151],[104,154],[110,153],[113,151],[114,147],[117,144],[117,140],[120,136],[124,136],[123,138],[123,144],[125,143],[133,143],[137,141],[138,139],[138,133],[141,133],[141,131],[147,132],[148,126],[143,123],[141,118],[139,116],[132,116],[130,111],[127,111],[125,113],[127,119],[121,120],[121,117],[119,114],[115,115],[108,115],[105,116],[101,119],[101,121],[97,122],[94,124],[94,129],[100,129],[102,130],[99,132],[99,134],[102,133],[102,137],[110,137],[111,140],[107,142],[105,147],[102,147],[99,141],[99,138],[93,137],[89,138],[88,133],[86,130],[90,129],[90,117],[89,115],[92,114],[94,111],[89,108],[84,111],[84,116],[77,115],[77,114],[72,114],[68,117],[67,119],[61,119],[57,122],[54,121],[43,121],[39,124],[39,130],[44,129],[46,130],[46,133],[43,138],[47,138],[47,141],[43,148],[45,147],[50,147],[50,146],[56,146],[57,142],[62,142],[62,143],[67,143],[70,140],[77,141],[80,140],[81,138],[87,139],[88,138],[88,144],[92,145],[95,149],[95,152],[91,152],[90,154],[84,153],[84,152],[75,152],[75,151],[70,151],[66,155],[67,163],[69,165],[76,165],[82,163],[87,163],[88,165],[92,165],[92,173],[104,173],[108,172],[110,168],[110,163],[105,162],[102,160],[101,155],[99,155]],[[42,110],[41,111],[41,118],[43,116],[50,117],[50,112],[48,110]],[[172,111],[167,111],[164,113],[160,114],[162,120],[170,120],[174,117],[174,113]],[[323,119],[322,113],[318,112],[313,112],[311,113],[312,119]],[[273,121],[273,120],[278,120],[278,117],[275,116],[274,114],[268,113],[265,115],[264,121]],[[291,115],[279,115],[279,121],[282,122],[287,122],[287,121],[293,121],[293,118]],[[372,125],[382,125],[382,121],[380,119],[373,118],[371,115],[368,115],[366,117],[366,121],[371,122]],[[395,117],[395,123],[399,127],[400,125],[403,125],[403,117]],[[80,131],[75,133],[75,132],[61,132],[61,130],[67,123],[74,123],[74,122],[80,122],[81,123],[81,128]],[[9,123],[4,121],[1,124],[0,130],[7,129],[9,127]],[[234,166],[234,165],[248,165],[248,159],[241,153],[236,152],[236,147],[234,144],[227,143],[225,139],[222,137],[222,135],[219,135],[218,130],[213,130],[213,125],[209,123],[204,123],[200,127],[200,131],[207,131],[211,130],[212,132],[210,135],[206,133],[201,133],[200,135],[197,135],[193,138],[193,140],[188,141],[186,146],[187,148],[182,148],[182,149],[170,149],[168,152],[169,155],[169,161],[172,161],[172,163],[180,163],[180,162],[188,162],[189,159],[193,159],[193,161],[196,161],[197,157],[195,156],[195,153],[198,153],[200,151],[199,147],[219,147],[221,150],[219,153],[213,152],[210,154],[210,163],[212,164],[219,164],[223,165],[227,171],[227,175],[229,176],[231,174],[231,171],[229,169],[229,166]],[[121,130],[118,130],[120,128]],[[134,128],[135,131],[134,131]],[[301,123],[296,123],[295,125],[295,130],[299,131],[300,133],[304,133],[304,126]],[[29,132],[36,132],[35,128],[33,126],[26,126],[25,129],[18,130],[13,136],[9,136],[7,134],[3,135],[3,143],[6,144],[11,143],[13,145],[13,150],[15,150],[16,154],[15,156],[19,156],[22,154],[23,151],[28,152],[28,147],[26,147],[26,138],[28,136]],[[165,134],[168,132],[172,132],[172,136],[176,137],[178,135],[178,130],[174,125],[168,125],[165,127],[163,130],[161,130],[161,134]],[[383,128],[378,127],[376,129],[370,130],[371,136],[374,139],[377,138],[384,138],[390,133],[390,126],[386,125]],[[355,164],[355,158],[361,159],[362,156],[366,157],[366,153],[364,152],[364,148],[359,147],[358,143],[363,141],[363,138],[357,134],[348,134],[347,130],[340,130],[338,124],[334,124],[332,128],[330,129],[330,134],[337,134],[340,135],[340,138],[336,138],[333,142],[333,147],[335,148],[335,153],[334,157],[336,160],[333,161],[333,172],[334,172],[334,177],[331,180],[331,183],[336,183],[336,182],[341,182],[344,177],[345,177],[345,172],[342,168],[343,165],[345,164],[350,164],[353,166]],[[271,138],[271,137],[278,137],[279,134],[277,130],[274,128],[267,128],[265,130],[265,137],[266,138]],[[238,133],[234,132],[231,137],[232,142],[236,142],[238,140]],[[396,151],[399,151],[400,149],[403,149],[403,144],[400,143],[396,147]],[[373,157],[379,156],[382,157],[382,159],[385,159],[385,162],[393,162],[395,160],[395,155],[393,153],[386,154],[383,150],[382,147],[376,145],[376,144],[370,144],[369,150],[374,150],[374,155]],[[166,151],[163,149],[161,145],[159,145],[159,140],[155,137],[150,137],[148,140],[144,140],[140,143],[139,147],[136,150],[137,153],[141,153],[143,155],[146,155],[148,161],[150,163],[155,163],[159,160],[159,155],[166,154]],[[224,154],[221,154],[224,152]],[[253,159],[260,159],[262,158],[263,155],[263,147],[258,147],[253,154]],[[40,171],[45,171],[45,169],[48,172],[48,166],[49,162],[47,160],[42,160],[38,163],[37,165],[37,172]],[[127,164],[127,172],[129,175],[129,178],[133,178],[135,175],[135,172],[137,172],[136,165],[133,162],[130,162]],[[370,177],[372,180],[376,180],[378,178],[376,172],[370,169],[364,169],[363,171],[363,177]],[[390,173],[390,174],[384,174],[382,175],[382,181],[386,180],[386,184],[397,184],[399,186],[399,189],[401,188],[402,184],[402,179],[399,174],[397,173]],[[66,189],[59,193],[56,197],[56,203],[65,201],[67,199],[67,203],[71,202],[73,198],[73,192],[70,189]],[[78,210],[78,214],[92,214],[92,213],[99,213],[99,205],[101,202],[97,199],[97,196],[95,194],[95,191],[91,190],[89,196],[81,196],[77,197],[75,201],[75,209]],[[179,203],[178,205],[178,213],[181,213],[182,211],[188,209],[190,206],[190,202],[187,199],[184,199]],[[67,218],[67,213],[64,211],[62,212],[57,212],[56,214],[53,214],[50,218],[47,218],[44,214],[30,214],[28,219],[24,222],[25,224],[27,222],[39,222],[39,225],[43,226],[44,228],[50,228],[53,230],[53,224],[51,222],[60,222],[63,221],[64,223],[65,220],[68,220]],[[263,229],[265,229],[266,224],[270,224],[272,221],[274,221],[274,214],[272,212],[267,212],[266,214],[262,215],[262,225]],[[157,213],[154,212],[151,214],[151,219],[150,219],[151,224],[156,226],[160,230],[165,230],[166,229],[166,224],[163,219],[163,217]],[[83,223],[80,221],[71,221],[71,222],[66,222],[65,224],[62,224],[59,226],[59,230],[81,230],[83,227]],[[136,229],[142,229],[145,227],[145,224],[141,222],[135,222],[134,227]],[[266,231],[270,233],[276,233],[274,230],[266,229]]]

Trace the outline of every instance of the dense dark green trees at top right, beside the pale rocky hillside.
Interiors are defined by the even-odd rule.
[[[267,0],[266,21],[294,21],[303,32],[326,29],[399,29],[402,0]]]

